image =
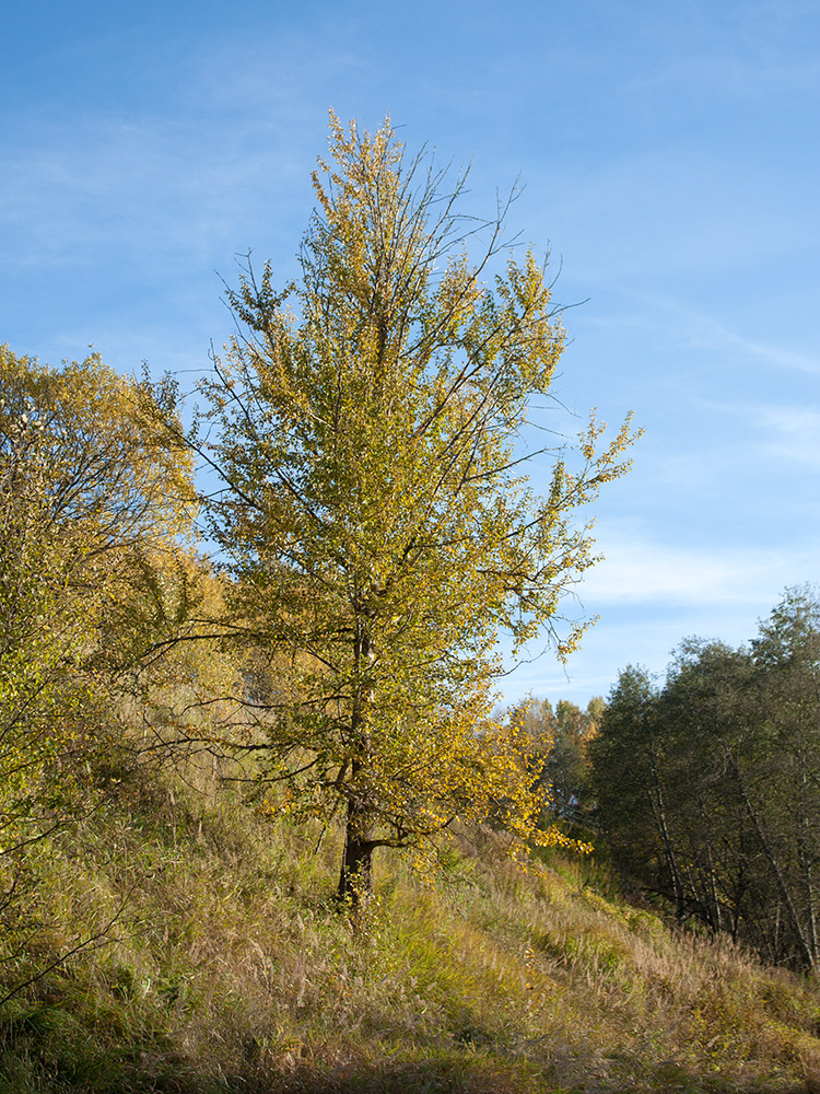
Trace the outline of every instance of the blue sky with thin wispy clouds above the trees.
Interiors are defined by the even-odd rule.
[[[0,341],[44,361],[192,382],[236,256],[295,271],[329,107],[472,161],[466,211],[520,175],[511,226],[587,301],[557,394],[646,432],[596,508],[600,621],[508,699],[586,702],[820,580],[820,2],[30,0],[0,32]]]

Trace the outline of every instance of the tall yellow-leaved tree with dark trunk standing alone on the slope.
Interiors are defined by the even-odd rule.
[[[230,301],[241,333],[202,385],[195,444],[221,476],[211,534],[236,580],[234,633],[286,656],[247,742],[293,808],[343,811],[339,893],[371,886],[379,846],[418,845],[455,818],[503,816],[524,838],[541,811],[516,731],[490,719],[500,629],[550,628],[593,543],[573,514],[623,474],[626,421],[579,466],[557,453],[544,497],[516,444],[548,396],[564,335],[544,268],[501,248],[504,210],[457,211],[464,178],[408,161],[389,121],[330,126],[330,161],[277,292],[248,263]],[[467,241],[489,233],[471,263]],[[546,451],[546,450],[544,450]],[[520,750],[520,749],[519,749]]]

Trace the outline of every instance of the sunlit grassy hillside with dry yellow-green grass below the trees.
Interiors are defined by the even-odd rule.
[[[820,1090],[820,986],[578,862],[522,870],[489,834],[429,881],[385,854],[354,931],[319,835],[154,773],[37,845],[4,991],[104,936],[0,1009],[0,1092]]]

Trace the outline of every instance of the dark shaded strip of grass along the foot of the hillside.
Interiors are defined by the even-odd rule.
[[[28,1041],[0,1054],[0,1094],[820,1094],[811,1081],[743,1083],[635,1058],[590,1066],[571,1056],[538,1061],[452,1048],[424,1059],[257,1059],[225,1075],[214,1074],[213,1061],[198,1068],[155,1046],[99,1052],[80,1039],[56,1052],[43,1048]]]

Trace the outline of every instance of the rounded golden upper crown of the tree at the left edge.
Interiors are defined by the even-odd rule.
[[[37,551],[59,555],[61,578],[40,584],[82,598],[74,653],[121,662],[130,601],[169,565],[194,515],[190,452],[167,443],[171,389],[121,376],[98,354],[52,369],[8,347],[0,382],[5,512],[26,527],[17,556],[36,567]]]

